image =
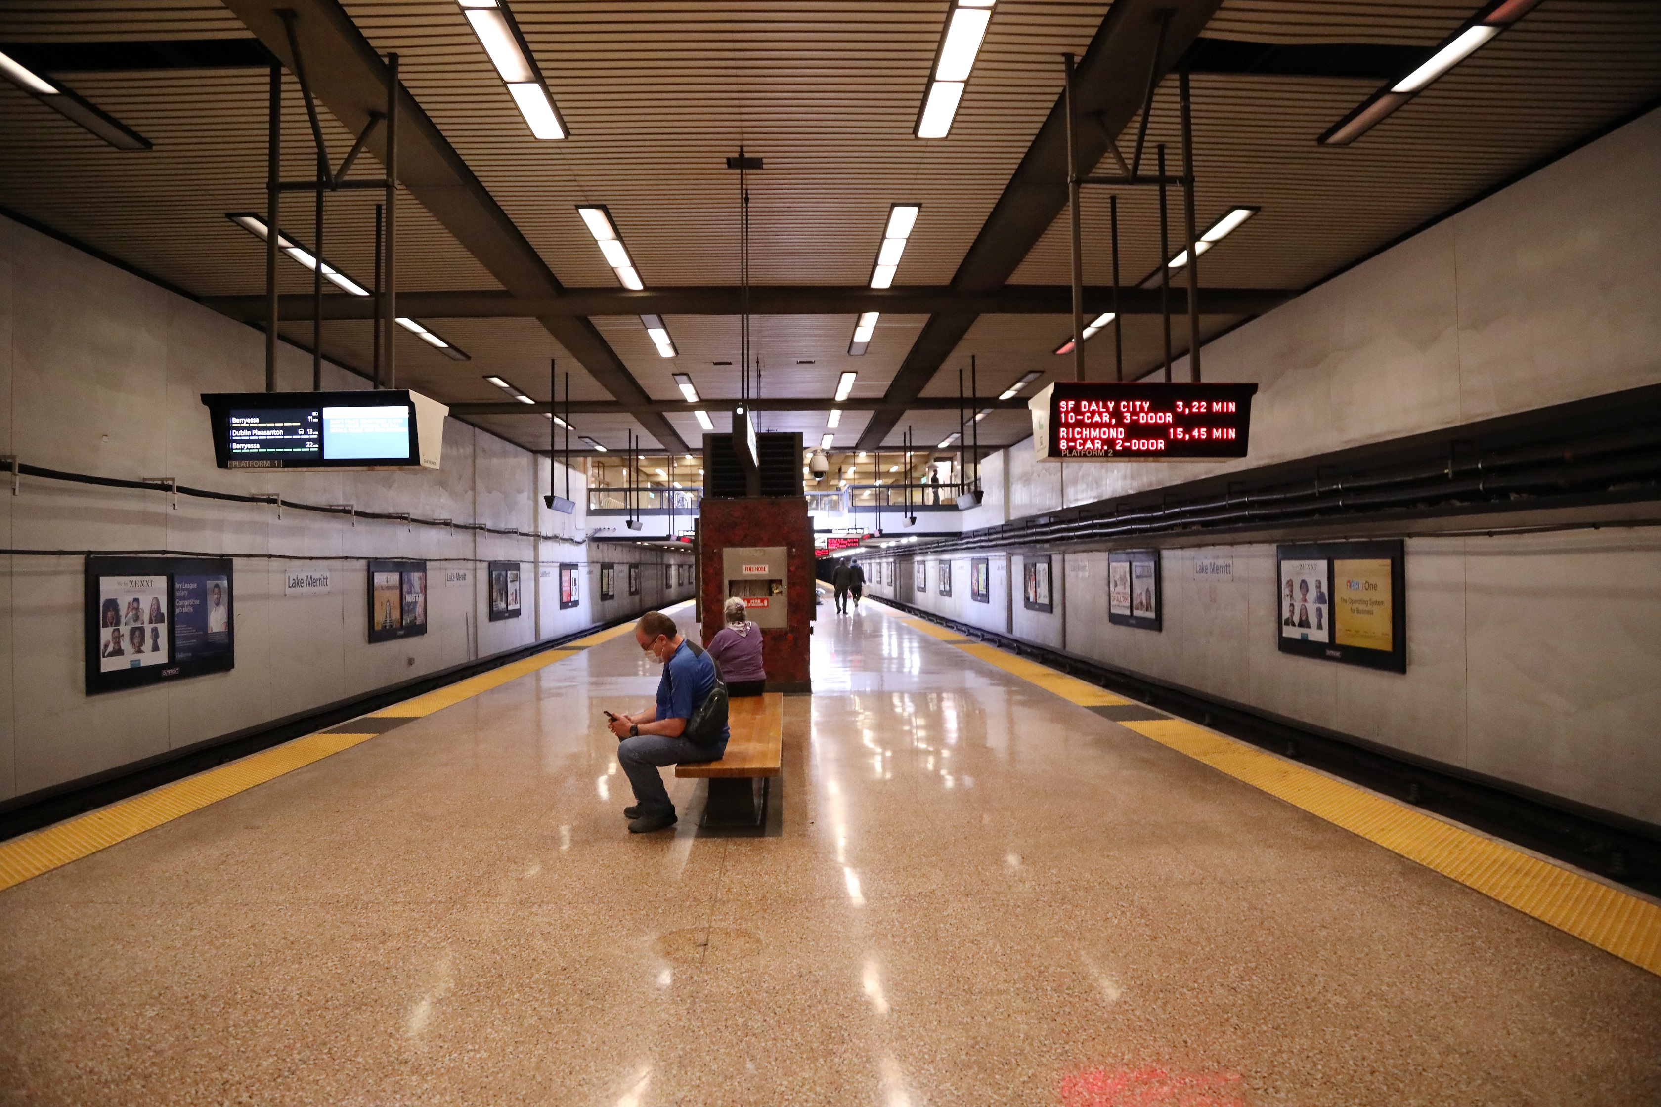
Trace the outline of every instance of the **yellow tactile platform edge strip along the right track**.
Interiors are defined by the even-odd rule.
[[[924,629],[919,626],[922,619],[905,619],[905,622]],[[938,632],[940,627],[927,626],[933,637],[945,637]],[[1129,702],[992,646],[977,642],[960,644],[957,649],[1085,707]],[[1088,699],[1090,694],[1106,699]],[[1433,868],[1623,961],[1661,974],[1661,908],[1648,900],[1183,719],[1149,719],[1118,725],[1129,727],[1143,737],[1204,762],[1425,868]]]

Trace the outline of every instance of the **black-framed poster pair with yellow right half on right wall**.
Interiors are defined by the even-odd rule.
[[[1274,561],[1274,632],[1282,654],[1407,672],[1407,561],[1402,539],[1276,546]],[[1316,589],[1307,597],[1306,581],[1314,581]],[[1320,584],[1325,586],[1324,604],[1317,601]],[[1379,599],[1387,601],[1389,612],[1377,611]],[[1304,616],[1306,609],[1312,617]],[[1325,626],[1317,627],[1316,622]],[[1385,647],[1367,644],[1385,634]]]

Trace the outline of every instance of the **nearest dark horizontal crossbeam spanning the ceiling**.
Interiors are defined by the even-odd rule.
[[[948,285],[867,289],[865,285],[761,285],[751,287],[752,315],[1065,315],[1071,290],[1065,284],[1008,284],[995,292],[957,292]],[[1188,310],[1186,289],[1171,289],[1174,310]],[[1208,315],[1261,315],[1297,295],[1294,289],[1206,289]],[[1086,312],[1105,312],[1111,287],[1086,287]],[[203,300],[231,319],[259,322],[264,295],[211,295]],[[311,295],[282,297],[282,319],[311,317]],[[510,319],[551,315],[736,315],[739,289],[693,285],[646,289],[565,289],[556,297],[523,299],[512,292],[399,292],[399,310],[417,319]],[[1126,315],[1158,315],[1158,289],[1120,289]],[[324,297],[324,319],[370,319],[374,302],[362,295]]]

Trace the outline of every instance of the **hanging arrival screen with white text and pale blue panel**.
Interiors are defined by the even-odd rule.
[[[203,397],[223,470],[439,468],[448,408],[405,388]]]

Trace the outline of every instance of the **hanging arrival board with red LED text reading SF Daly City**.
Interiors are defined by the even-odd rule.
[[[1244,458],[1254,383],[1061,382],[1035,395],[1040,461]]]

